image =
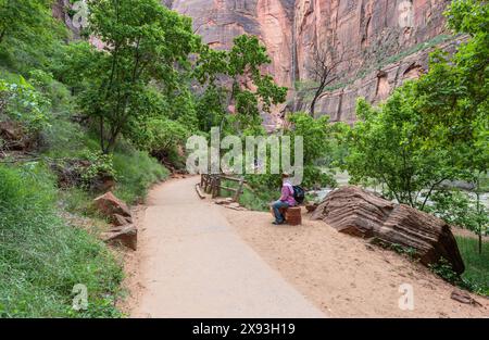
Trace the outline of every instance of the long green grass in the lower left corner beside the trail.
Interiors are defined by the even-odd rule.
[[[108,248],[58,214],[57,192],[41,165],[0,166],[0,317],[114,317],[123,277]],[[88,290],[88,311],[72,308],[72,290]]]

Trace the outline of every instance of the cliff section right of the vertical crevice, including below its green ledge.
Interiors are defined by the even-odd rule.
[[[316,112],[331,121],[354,122],[356,98],[379,102],[405,79],[425,72],[429,49],[449,38],[442,15],[449,2],[296,1],[296,79],[308,88],[315,49],[333,52],[331,64],[338,63],[333,74],[337,79],[319,98]],[[306,110],[311,96],[300,91],[293,109]]]

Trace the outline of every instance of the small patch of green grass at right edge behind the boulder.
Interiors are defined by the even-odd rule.
[[[489,242],[484,242],[482,254],[478,252],[478,240],[456,237],[459,250],[465,263],[462,278],[474,286],[475,291],[489,295]]]

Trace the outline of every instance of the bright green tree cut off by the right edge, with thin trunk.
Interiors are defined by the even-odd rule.
[[[429,73],[417,83],[416,110],[427,146],[448,150],[454,166],[471,174],[481,216],[479,182],[489,165],[489,7],[486,1],[456,0],[446,15],[449,27],[468,38],[454,55],[431,56]],[[487,219],[477,221],[481,251]]]

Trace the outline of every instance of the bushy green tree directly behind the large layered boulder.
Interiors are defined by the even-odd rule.
[[[353,182],[373,179],[398,202],[423,210],[436,187],[459,173],[448,150],[425,147],[415,89],[414,83],[405,84],[378,109],[359,101],[361,122],[347,134],[346,169]]]

